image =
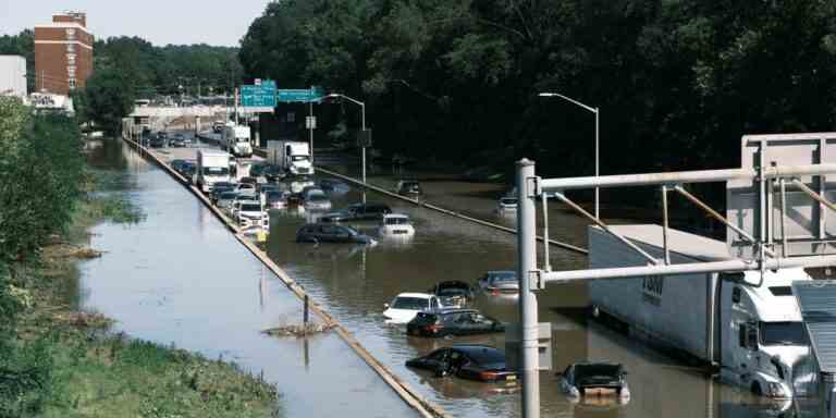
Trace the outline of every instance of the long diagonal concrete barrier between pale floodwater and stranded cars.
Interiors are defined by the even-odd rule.
[[[270,271],[273,272],[284,284],[287,286],[287,288],[291,290],[297,297],[299,297],[300,300],[305,300],[306,292],[305,290],[296,283],[293,278],[291,278],[287,272],[285,272],[282,268],[280,268],[275,262],[273,262],[272,259],[261,250],[258,246],[253,244],[241,231],[241,229],[235,224],[235,222],[230,219],[223,211],[218,209],[212,202],[194,185],[190,184],[190,182],[182,176],[180,173],[174,171],[174,169],[171,168],[168,163],[162,161],[152,150],[149,150],[148,148],[142,146],[140,144],[123,137],[125,143],[131,145],[134,149],[136,149],[140,156],[148,158],[153,163],[162,168],[164,171],[167,171],[171,176],[180,181],[186,188],[188,188],[193,195],[195,195],[200,201],[204,202],[204,205],[209,208],[209,210],[214,213],[218,219],[223,222],[226,228],[230,229],[230,231],[233,232],[235,238],[244,245],[256,258],[258,258],[261,263],[265,265]],[[407,403],[410,407],[413,407],[418,414],[420,414],[422,417],[440,417],[440,418],[452,418],[444,409],[442,409],[440,406],[435,405],[434,403],[430,402],[429,399],[426,399],[423,396],[421,396],[418,392],[416,392],[409,384],[401,380],[395,373],[389,369],[385,365],[380,362],[374,356],[372,356],[366,347],[360,344],[360,342],[354,336],[354,334],[348,331],[345,327],[343,327],[340,322],[336,321],[331,315],[325,312],[316,302],[314,302],[314,298],[310,296],[307,296],[309,299],[309,309],[314,312],[314,315],[318,316],[322,321],[324,321],[327,324],[331,324],[334,327],[334,330],[336,333],[343,339],[343,341],[358,355],[360,358],[362,358],[364,361],[366,361],[369,367],[371,367],[372,370],[374,370],[378,376],[380,376],[384,382],[389,384],[390,388],[398,395],[401,398]]]

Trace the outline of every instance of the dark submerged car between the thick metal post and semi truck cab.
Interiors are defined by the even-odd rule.
[[[575,402],[589,395],[615,395],[619,403],[630,398],[627,372],[616,362],[577,362],[557,377],[561,391]]]

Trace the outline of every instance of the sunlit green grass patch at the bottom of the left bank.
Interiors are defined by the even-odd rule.
[[[62,331],[45,417],[278,417],[275,389],[182,349]]]

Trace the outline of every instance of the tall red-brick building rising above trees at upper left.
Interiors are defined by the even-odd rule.
[[[35,26],[35,90],[66,95],[84,87],[93,73],[93,34],[79,12],[52,15]]]

